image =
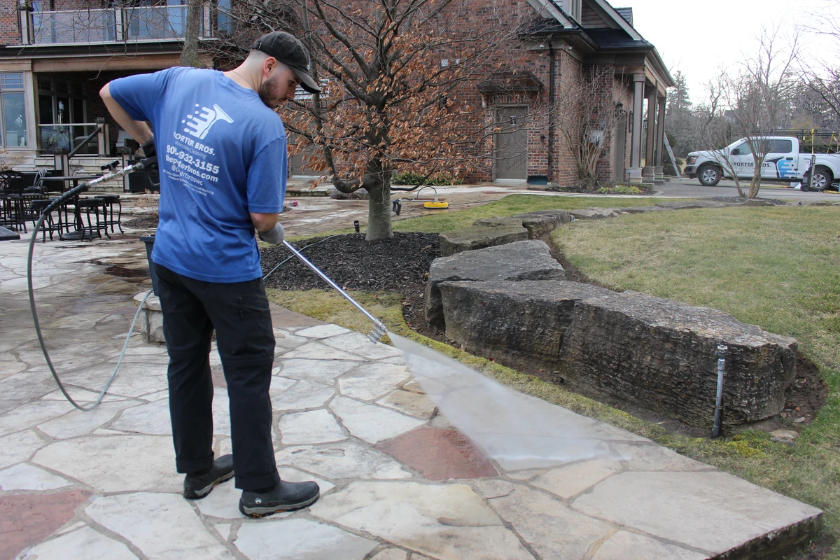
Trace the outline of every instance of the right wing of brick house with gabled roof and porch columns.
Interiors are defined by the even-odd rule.
[[[527,115],[546,103],[562,106],[559,97],[585,87],[587,73],[598,78],[591,95],[604,97],[616,111],[599,179],[638,182],[661,176],[665,95],[674,81],[654,45],[633,28],[633,8],[613,8],[606,0],[527,1],[538,18],[520,35],[516,65],[506,69],[518,76],[516,94],[509,91],[510,80],[506,87],[491,78],[477,88],[484,118],[507,125],[505,138],[496,142],[498,161],[485,178],[543,179],[559,186],[578,181],[570,146],[561,139],[563,119],[549,113],[534,122]]]

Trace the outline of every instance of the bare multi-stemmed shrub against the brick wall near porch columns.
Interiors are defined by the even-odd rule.
[[[598,163],[621,115],[612,98],[612,66],[590,66],[582,70],[580,86],[559,94],[557,114],[560,137],[575,159],[578,179],[588,191],[598,181]]]

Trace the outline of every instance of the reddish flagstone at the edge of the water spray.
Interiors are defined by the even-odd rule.
[[[417,470],[428,480],[499,476],[496,467],[475,443],[457,430],[418,427],[375,447]]]

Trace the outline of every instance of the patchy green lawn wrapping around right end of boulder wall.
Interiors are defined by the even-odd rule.
[[[637,214],[574,222],[553,239],[598,284],[714,307],[799,340],[830,395],[810,427],[797,427],[795,447],[765,432],[657,440],[816,505],[827,533],[840,537],[840,207]]]

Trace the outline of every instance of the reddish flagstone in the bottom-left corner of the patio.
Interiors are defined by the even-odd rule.
[[[58,494],[0,493],[0,560],[12,560],[18,552],[38,544],[76,515],[76,508],[91,493],[71,490]]]

